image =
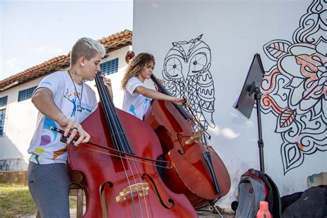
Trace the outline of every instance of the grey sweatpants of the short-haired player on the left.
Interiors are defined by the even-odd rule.
[[[28,188],[41,217],[70,217],[66,164],[28,164]]]

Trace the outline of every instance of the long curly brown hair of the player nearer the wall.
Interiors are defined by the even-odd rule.
[[[141,70],[143,70],[144,66],[150,62],[153,62],[153,65],[155,65],[155,57],[153,57],[152,54],[144,52],[139,53],[133,57],[128,62],[128,67],[126,69],[125,75],[123,75],[123,79],[121,80],[121,89],[124,90],[128,79],[137,77]]]

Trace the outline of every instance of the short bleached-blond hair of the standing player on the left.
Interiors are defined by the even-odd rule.
[[[95,57],[97,54],[101,54],[104,57],[106,50],[104,46],[94,39],[83,37],[72,46],[72,51],[70,52],[70,65],[73,66],[77,63],[80,57],[86,57],[88,61]]]

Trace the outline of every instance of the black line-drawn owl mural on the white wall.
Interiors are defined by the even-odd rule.
[[[215,128],[212,114],[215,111],[215,88],[209,46],[201,41],[202,34],[190,41],[172,43],[164,60],[164,86],[175,97],[187,97],[190,110],[195,113],[202,126]]]

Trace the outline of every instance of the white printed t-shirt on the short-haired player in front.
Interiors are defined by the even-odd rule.
[[[82,94],[82,86],[76,83],[75,86],[68,72],[63,71],[54,72],[43,78],[37,89],[41,87],[50,89],[54,103],[59,110],[68,119],[81,123],[97,109],[97,99],[95,92],[86,83],[83,83]],[[37,129],[28,148],[28,153],[32,154],[29,160],[36,164],[66,163],[67,161],[67,144],[60,141],[61,134],[50,130],[50,126],[61,128],[58,123],[39,112]]]

